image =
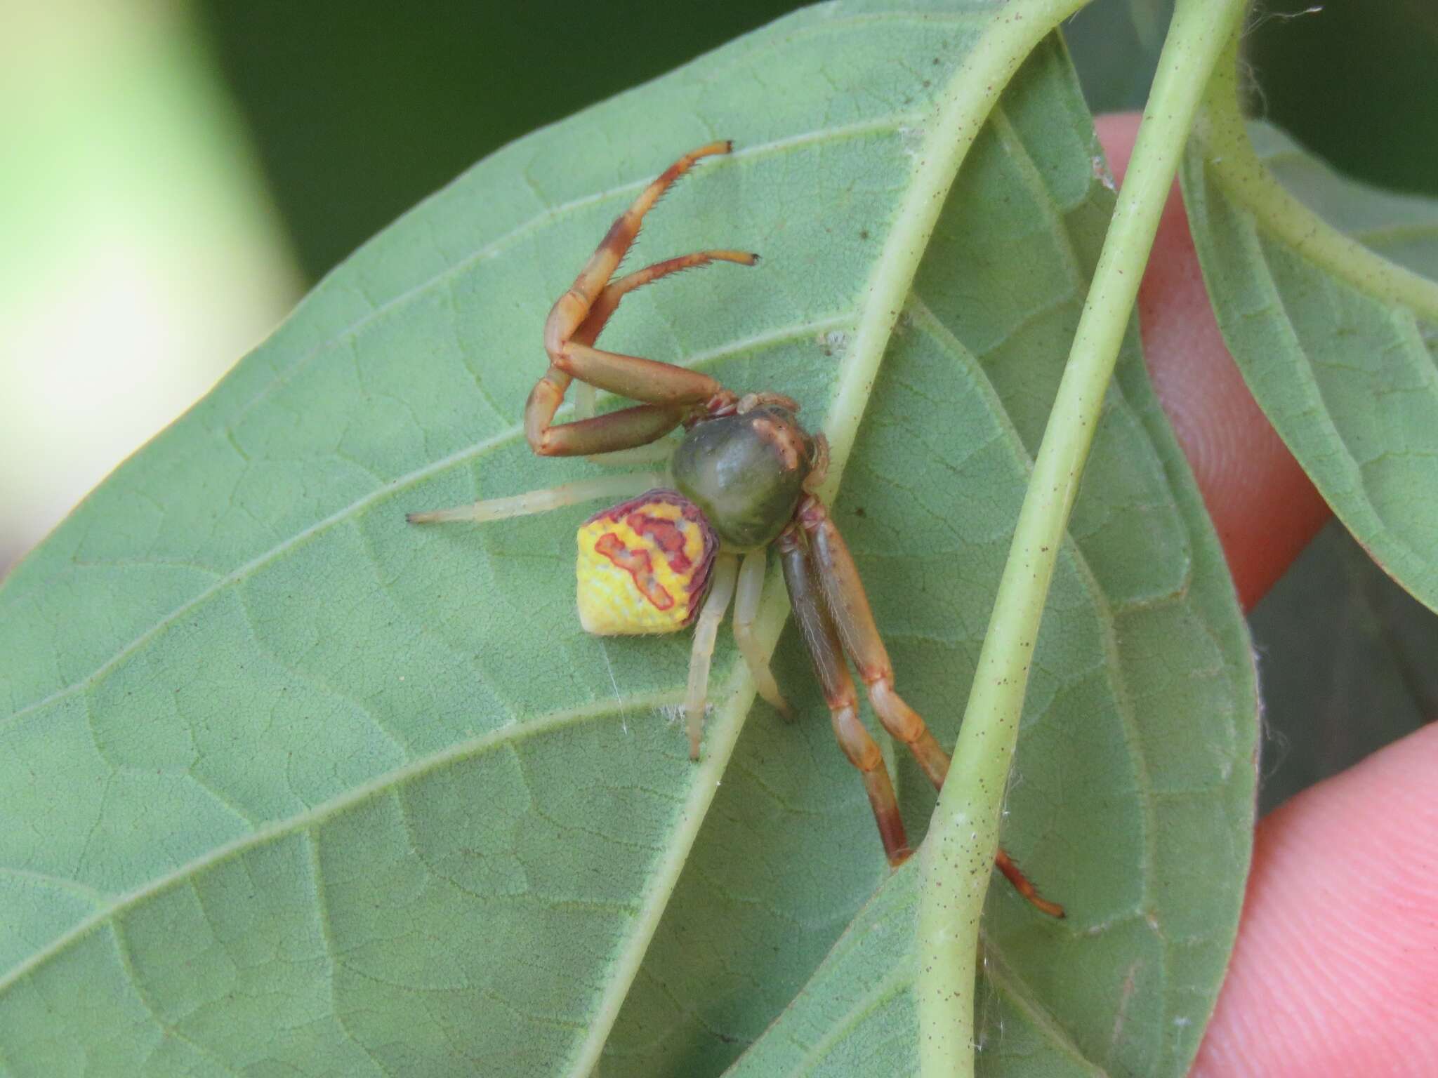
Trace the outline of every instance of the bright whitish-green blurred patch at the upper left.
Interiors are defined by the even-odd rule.
[[[0,572],[299,298],[187,6],[0,0]]]

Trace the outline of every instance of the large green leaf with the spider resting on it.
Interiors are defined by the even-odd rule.
[[[696,766],[666,722],[687,640],[575,622],[588,510],[403,515],[598,473],[523,444],[538,328],[640,185],[733,135],[643,253],[765,262],[634,295],[605,342],[823,417],[902,690],[952,743],[1110,198],[1061,46],[981,135],[986,101],[946,95],[982,65],[998,93],[1024,50],[995,42],[1048,7],[810,9],[515,144],[12,573],[0,1074],[693,1075],[759,1036],[886,875],[797,640],[797,724],[745,724],[722,641]],[[945,198],[935,154],[975,135]],[[916,206],[943,208],[932,241]],[[1005,842],[1070,920],[1001,893],[989,929],[1027,999],[1116,1061],[1196,1042],[1252,803],[1242,624],[1156,423],[1130,354],[1011,796]],[[782,615],[771,592],[771,640]],[[917,838],[932,795],[906,760],[899,783]]]

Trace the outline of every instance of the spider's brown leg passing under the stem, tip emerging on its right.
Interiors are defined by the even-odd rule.
[[[810,535],[814,566],[824,589],[824,599],[834,617],[844,648],[854,660],[858,676],[869,688],[869,700],[884,729],[909,746],[915,760],[929,776],[935,789],[943,788],[949,773],[949,756],[919,713],[905,703],[894,691],[894,671],[889,651],[879,637],[869,596],[858,579],[858,568],[848,552],[848,545],[830,519],[824,503],[812,494],[800,506],[798,520]],[[1063,917],[1064,908],[1040,897],[1038,891],[1001,848],[994,858],[995,865],[1024,898],[1051,917]]]

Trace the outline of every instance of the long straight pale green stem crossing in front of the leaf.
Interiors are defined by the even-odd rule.
[[[1159,214],[1204,86],[1241,13],[1241,0],[1178,0],[1020,509],[953,765],[920,851],[917,1008],[923,1078],[974,1074],[979,917],[1048,584]]]

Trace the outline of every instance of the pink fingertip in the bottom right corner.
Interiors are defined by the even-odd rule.
[[[1429,723],[1258,825],[1192,1078],[1438,1075],[1435,775]]]

